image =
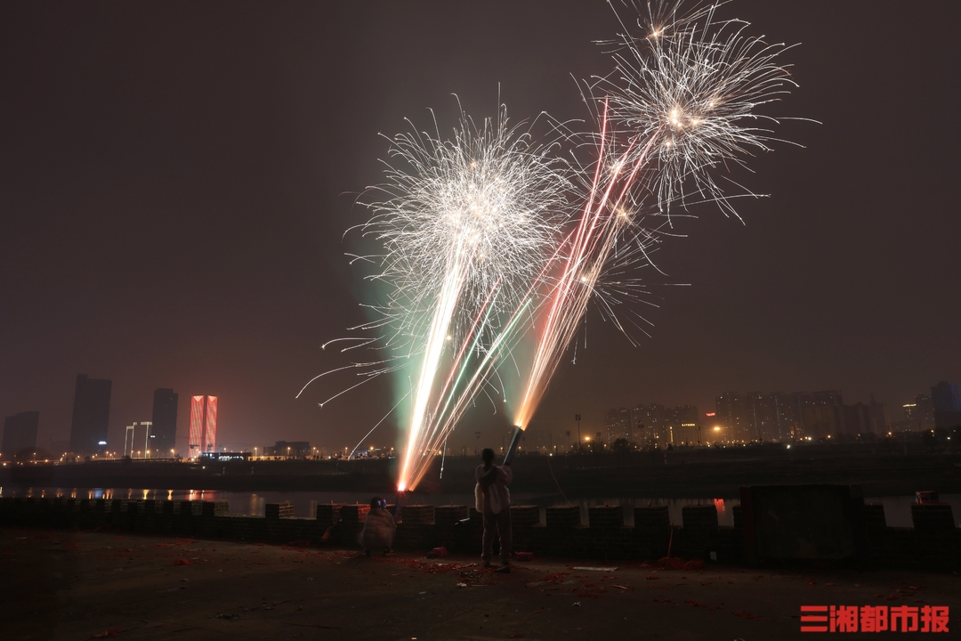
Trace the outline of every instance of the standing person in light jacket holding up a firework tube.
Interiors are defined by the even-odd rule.
[[[478,511],[483,515],[483,552],[480,560],[485,568],[490,567],[494,555],[494,529],[501,540],[502,567],[497,572],[510,572],[510,492],[507,485],[513,478],[509,465],[494,465],[494,451],[484,448],[480,453],[483,464],[478,466],[475,488]]]

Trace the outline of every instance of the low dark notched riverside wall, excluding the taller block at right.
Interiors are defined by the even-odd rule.
[[[67,498],[0,499],[0,527],[55,530],[115,529],[206,539],[357,547],[366,505],[317,505],[314,518],[295,518],[290,504],[268,504],[265,516],[232,515],[227,502],[130,501]],[[734,526],[719,527],[713,505],[688,505],[682,524],[672,525],[666,505],[634,508],[634,526],[624,525],[621,505],[588,508],[581,522],[577,505],[546,509],[510,507],[514,550],[549,557],[599,559],[700,558],[753,563],[746,555],[745,524],[734,507]],[[861,505],[855,520],[866,540],[856,562],[873,567],[937,570],[961,568],[961,530],[950,505],[912,505],[914,528],[889,528],[882,505]],[[467,505],[404,505],[395,548],[430,551],[480,550],[480,514]],[[864,546],[862,546],[864,547]]]

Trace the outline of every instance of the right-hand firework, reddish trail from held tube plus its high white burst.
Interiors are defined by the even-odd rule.
[[[773,138],[769,132],[745,127],[741,121],[765,118],[756,108],[794,86],[786,68],[775,60],[785,47],[745,36],[746,22],[715,21],[717,6],[679,16],[678,5],[674,5],[673,11],[660,14],[662,24],[656,23],[652,12],[650,33],[643,38],[622,35],[621,51],[614,57],[615,75],[596,84],[606,95],[594,180],[564,271],[549,295],[549,311],[539,328],[527,390],[514,421],[521,429],[529,424],[561,355],[577,332],[601,269],[614,249],[620,217],[631,215],[620,210],[630,192],[652,191],[658,210],[669,214],[672,203],[688,204],[685,185],[693,184],[693,191],[703,200],[737,215],[710,170],[727,163],[745,166],[743,156],[751,155],[752,149],[770,151],[767,142]],[[620,129],[608,132],[609,124]],[[627,136],[624,152],[616,151],[618,136]],[[617,159],[609,176],[603,172],[605,156]],[[622,179],[625,163],[633,166]],[[646,173],[643,180],[636,181],[642,167]],[[607,185],[602,189],[604,181]],[[620,194],[608,205],[618,182]],[[599,191],[603,196],[595,204]]]

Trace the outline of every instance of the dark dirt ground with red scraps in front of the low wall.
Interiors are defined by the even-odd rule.
[[[801,605],[831,604],[949,605],[934,638],[961,635],[953,573],[479,560],[5,528],[0,638],[809,640]]]

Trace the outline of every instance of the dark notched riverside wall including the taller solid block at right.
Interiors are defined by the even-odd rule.
[[[668,505],[511,505],[516,550],[556,558],[656,560],[674,555],[756,565],[758,559],[847,559],[861,567],[961,570],[961,530],[948,504],[911,505],[913,528],[887,525],[883,505],[865,504],[848,485],[742,488],[745,505],[731,507],[723,527],[717,506],[685,505],[680,523]],[[391,509],[395,506],[390,505]],[[296,518],[290,503],[265,505],[264,516],[230,513],[225,501],[124,499],[0,499],[0,527],[115,530],[212,540],[304,545],[357,545],[366,505],[315,505]],[[398,506],[397,550],[435,547],[464,553],[480,546],[480,513],[469,505]]]

